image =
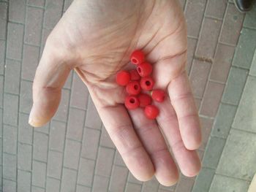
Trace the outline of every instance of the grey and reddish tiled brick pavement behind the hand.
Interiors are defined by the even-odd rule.
[[[192,191],[195,178],[181,176],[177,185],[166,188],[156,180],[141,183],[132,177],[102,127],[86,87],[75,73],[70,74],[64,85],[61,106],[53,120],[42,128],[28,125],[31,85],[45,39],[71,1],[0,0],[0,191]],[[252,62],[253,53],[246,53],[244,58],[241,47],[255,38],[253,13],[244,20],[244,14],[227,0],[182,0],[181,4],[188,26],[187,71],[203,125],[204,141],[198,153],[203,156],[222,99],[217,115],[222,121],[214,124],[217,132],[212,131],[208,150],[216,156],[222,155],[220,161],[225,166],[230,158],[226,152],[233,145],[240,146],[236,142],[241,139],[239,123],[247,122],[238,118],[236,107]],[[245,28],[240,36],[243,21]],[[249,47],[253,48],[253,45]],[[252,66],[252,76],[255,69]],[[245,91],[252,91],[249,86],[253,82],[254,77],[247,79]],[[248,105],[245,94],[243,97]],[[243,107],[240,109],[241,114],[248,112]],[[227,115],[225,119],[223,114]],[[229,134],[235,114],[234,130]],[[242,133],[250,137],[247,133],[255,131],[255,127],[246,125],[246,128]],[[230,166],[221,167],[219,159],[209,156],[205,164],[193,192],[200,192],[204,185],[210,186],[212,180],[211,192],[222,191],[219,184],[233,183],[243,177],[237,182],[238,188],[242,188],[247,185],[243,181],[250,178],[244,176],[248,167],[244,172],[236,172],[236,178],[230,178],[223,175],[233,174],[233,170],[228,169]],[[200,178],[208,178],[208,183],[200,184]]]

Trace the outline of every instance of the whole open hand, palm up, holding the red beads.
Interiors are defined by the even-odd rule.
[[[128,69],[129,54],[141,49],[154,66],[155,88],[168,93],[157,103],[157,120],[143,110],[127,111],[124,88],[115,75]],[[48,37],[33,85],[29,123],[42,126],[55,114],[61,88],[75,69],[89,88],[102,122],[138,180],[154,174],[162,185],[178,180],[178,169],[162,134],[184,175],[200,170],[196,149],[200,123],[185,65],[187,30],[178,1],[75,0]],[[161,130],[161,131],[160,131]]]

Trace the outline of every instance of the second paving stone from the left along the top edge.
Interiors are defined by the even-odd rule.
[[[9,1],[9,20],[24,23],[26,15],[26,0]]]

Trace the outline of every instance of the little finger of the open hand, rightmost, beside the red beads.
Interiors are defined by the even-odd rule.
[[[188,150],[195,150],[200,146],[202,137],[200,120],[192,91],[184,71],[178,77],[171,80],[167,87],[171,104],[178,118],[178,126],[181,138]]]

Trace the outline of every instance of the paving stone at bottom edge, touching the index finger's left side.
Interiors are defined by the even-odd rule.
[[[125,184],[127,182],[128,169],[123,166],[113,166],[113,173],[111,175],[110,181],[110,191],[119,192],[124,190]]]

